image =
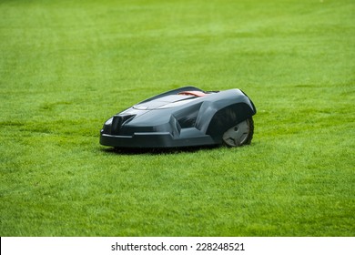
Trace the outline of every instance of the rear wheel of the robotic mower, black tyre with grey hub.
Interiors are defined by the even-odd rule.
[[[254,134],[254,121],[252,117],[238,123],[238,125],[229,128],[223,134],[223,143],[228,147],[239,147],[248,145]]]

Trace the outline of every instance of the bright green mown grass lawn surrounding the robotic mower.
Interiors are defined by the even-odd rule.
[[[355,236],[353,0],[0,2],[0,236]],[[119,153],[108,117],[243,89],[250,146]]]

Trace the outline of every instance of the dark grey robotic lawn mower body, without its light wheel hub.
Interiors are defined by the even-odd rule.
[[[249,143],[254,114],[254,104],[239,89],[205,92],[197,87],[181,87],[110,117],[101,130],[100,144],[115,148],[220,145],[230,128],[247,121],[248,134],[244,136],[249,137],[244,143]],[[242,145],[230,141],[231,147]]]

